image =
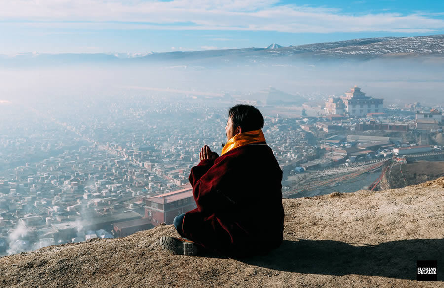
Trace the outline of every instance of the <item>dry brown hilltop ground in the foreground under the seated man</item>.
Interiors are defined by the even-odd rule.
[[[268,256],[169,255],[158,239],[177,234],[160,225],[0,258],[0,287],[443,287],[444,178],[283,202]],[[416,260],[438,260],[439,281],[417,282]]]

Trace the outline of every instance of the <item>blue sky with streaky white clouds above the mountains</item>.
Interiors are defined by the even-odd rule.
[[[444,34],[443,0],[0,0],[0,54],[146,53]]]

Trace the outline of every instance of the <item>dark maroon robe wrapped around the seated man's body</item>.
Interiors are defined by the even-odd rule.
[[[189,181],[197,208],[185,214],[183,237],[232,255],[266,253],[283,239],[282,170],[264,142],[202,160]]]

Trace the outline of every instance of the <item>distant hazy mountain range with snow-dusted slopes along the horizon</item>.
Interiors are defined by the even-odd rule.
[[[0,55],[0,65],[75,63],[174,63],[181,65],[236,65],[289,63],[297,60],[366,60],[383,56],[444,56],[444,35],[383,37],[282,47],[242,48],[193,52]]]

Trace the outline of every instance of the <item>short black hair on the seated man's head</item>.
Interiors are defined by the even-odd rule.
[[[233,122],[233,126],[241,127],[242,132],[259,130],[263,128],[263,116],[260,111],[246,104],[237,104],[230,108],[228,116]]]

